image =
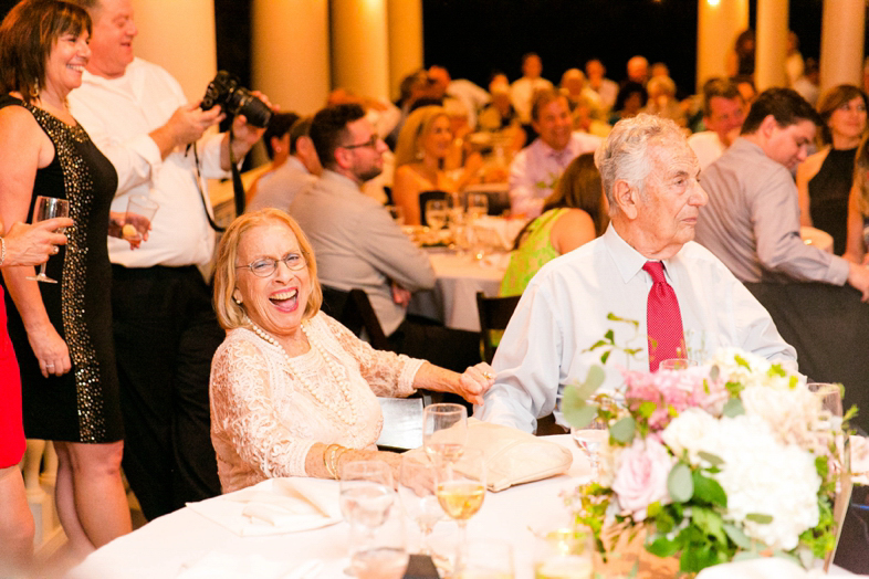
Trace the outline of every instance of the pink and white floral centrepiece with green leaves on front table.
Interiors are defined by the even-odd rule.
[[[796,375],[739,349],[622,373],[619,392],[598,393],[594,367],[563,401],[574,427],[609,431],[598,481],[569,499],[601,551],[605,526],[645,529],[647,550],[679,556],[689,573],[769,555],[808,567],[834,548],[837,439],[850,412],[833,415]]]

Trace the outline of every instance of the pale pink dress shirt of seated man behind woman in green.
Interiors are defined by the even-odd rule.
[[[600,146],[601,139],[587,133],[574,133],[563,150],[555,150],[543,139],[519,151],[510,164],[510,208],[530,219],[538,217],[543,201],[552,193],[570,161]]]

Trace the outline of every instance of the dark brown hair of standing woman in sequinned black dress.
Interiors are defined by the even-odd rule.
[[[0,24],[0,90],[31,103],[45,86],[45,64],[64,34],[91,33],[91,17],[59,0],[23,0]]]

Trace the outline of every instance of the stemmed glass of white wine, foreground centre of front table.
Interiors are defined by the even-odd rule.
[[[459,524],[456,568],[461,569],[462,548],[468,541],[468,520],[480,510],[485,498],[485,460],[483,451],[464,449],[452,461],[434,465],[434,494],[447,516]]]

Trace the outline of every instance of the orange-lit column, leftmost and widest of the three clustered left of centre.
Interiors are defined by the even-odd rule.
[[[329,91],[327,0],[253,0],[252,88],[313,115]]]

